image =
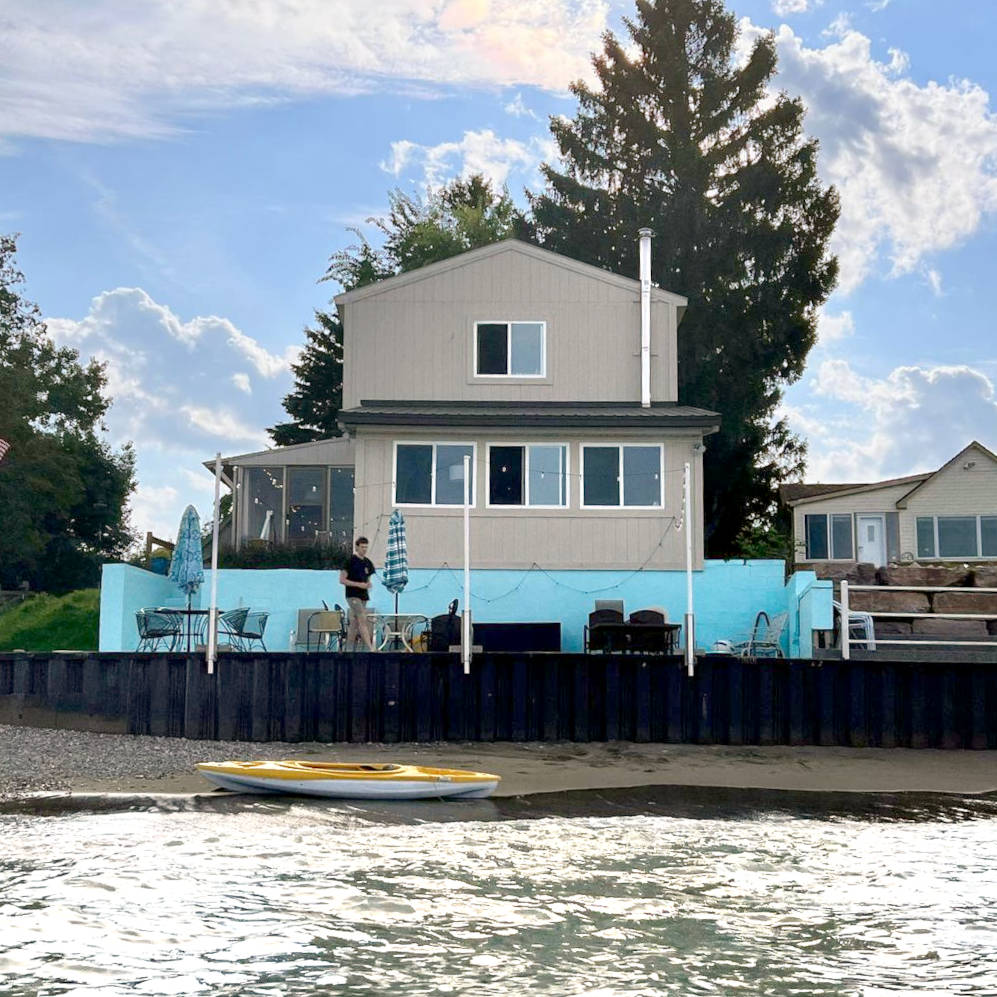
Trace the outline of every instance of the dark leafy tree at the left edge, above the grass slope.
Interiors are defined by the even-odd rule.
[[[129,446],[101,439],[104,368],[58,348],[22,295],[16,240],[0,236],[0,588],[66,592],[96,585],[102,561],[132,542]]]

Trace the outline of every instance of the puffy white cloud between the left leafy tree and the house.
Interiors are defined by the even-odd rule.
[[[107,364],[108,437],[135,443],[140,532],[171,536],[188,503],[209,518],[214,486],[202,462],[265,449],[266,427],[284,418],[298,347],[271,353],[228,319],[185,321],[141,288],[116,288],[82,319],[46,323],[57,343]]]

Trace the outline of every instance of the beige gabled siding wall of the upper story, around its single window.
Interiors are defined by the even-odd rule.
[[[639,401],[640,293],[509,251],[343,306],[343,407],[363,399]],[[475,322],[547,323],[547,376],[474,377]],[[677,399],[676,307],[651,305],[651,398]]]

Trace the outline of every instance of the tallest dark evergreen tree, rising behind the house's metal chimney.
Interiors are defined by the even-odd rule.
[[[802,466],[775,412],[837,278],[838,198],[802,103],[769,90],[770,37],[737,62],[722,0],[637,0],[625,24],[632,46],[607,33],[598,86],[574,84],[574,119],[551,122],[562,162],[542,168],[533,218],[543,245],[618,273],[637,272],[637,230],[656,233],[652,278],[689,298],[679,399],[723,416],[704,475],[707,546],[724,555]]]

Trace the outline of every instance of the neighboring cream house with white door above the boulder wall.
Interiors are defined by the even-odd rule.
[[[779,494],[797,563],[997,559],[997,455],[975,440],[937,471]]]

